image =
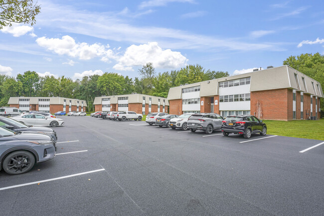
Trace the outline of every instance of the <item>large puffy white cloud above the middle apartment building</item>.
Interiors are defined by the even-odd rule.
[[[131,45],[125,54],[118,59],[115,70],[132,70],[133,66],[142,66],[152,62],[155,68],[179,68],[186,65],[186,59],[180,52],[170,49],[162,50],[157,42],[142,45]]]

